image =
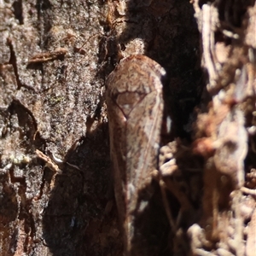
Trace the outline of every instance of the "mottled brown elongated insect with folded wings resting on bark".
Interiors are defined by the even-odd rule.
[[[137,216],[148,206],[160,148],[163,67],[144,55],[120,61],[108,76],[106,100],[114,192],[126,255],[137,236]],[[134,253],[132,253],[134,255]]]

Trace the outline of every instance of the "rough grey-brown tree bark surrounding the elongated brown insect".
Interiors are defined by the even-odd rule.
[[[122,255],[104,85],[132,54],[166,69],[178,137],[152,255],[253,255],[256,6],[192,2],[0,1],[1,255]]]

